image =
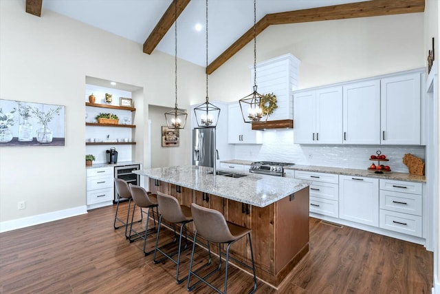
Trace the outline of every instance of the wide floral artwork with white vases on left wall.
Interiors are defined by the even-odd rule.
[[[64,106],[0,99],[0,147],[64,145]]]

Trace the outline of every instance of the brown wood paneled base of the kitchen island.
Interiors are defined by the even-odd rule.
[[[150,177],[149,189],[152,193],[161,191],[175,196],[181,204],[188,207],[195,202],[216,209],[229,222],[252,229],[256,275],[275,288],[309,252],[308,186],[265,207],[197,191],[166,182],[163,178],[159,180]],[[195,227],[187,227],[187,230],[192,235]],[[243,238],[233,244],[230,254],[237,260],[250,264],[250,251],[246,242],[246,238]]]

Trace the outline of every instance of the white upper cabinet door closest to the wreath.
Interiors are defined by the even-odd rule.
[[[316,130],[316,91],[294,94],[294,143],[314,144]]]

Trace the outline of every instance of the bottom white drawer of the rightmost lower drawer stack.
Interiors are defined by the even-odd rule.
[[[421,237],[421,216],[380,209],[380,227]]]

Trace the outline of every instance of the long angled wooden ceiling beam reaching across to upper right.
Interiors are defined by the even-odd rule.
[[[272,13],[266,14],[263,19],[256,23],[256,35],[263,32],[269,25],[351,19],[355,17],[379,17],[389,14],[423,12],[424,10],[425,0],[371,0],[321,8]],[[228,49],[206,67],[206,74],[212,74],[212,72],[234,56],[236,52],[239,52],[246,44],[252,41],[253,38],[254,30],[250,28],[248,32],[245,32],[243,36],[230,45]]]

